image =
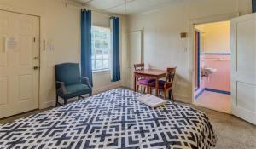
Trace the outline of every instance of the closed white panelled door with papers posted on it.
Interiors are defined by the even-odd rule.
[[[0,10],[0,118],[38,108],[39,18]]]

